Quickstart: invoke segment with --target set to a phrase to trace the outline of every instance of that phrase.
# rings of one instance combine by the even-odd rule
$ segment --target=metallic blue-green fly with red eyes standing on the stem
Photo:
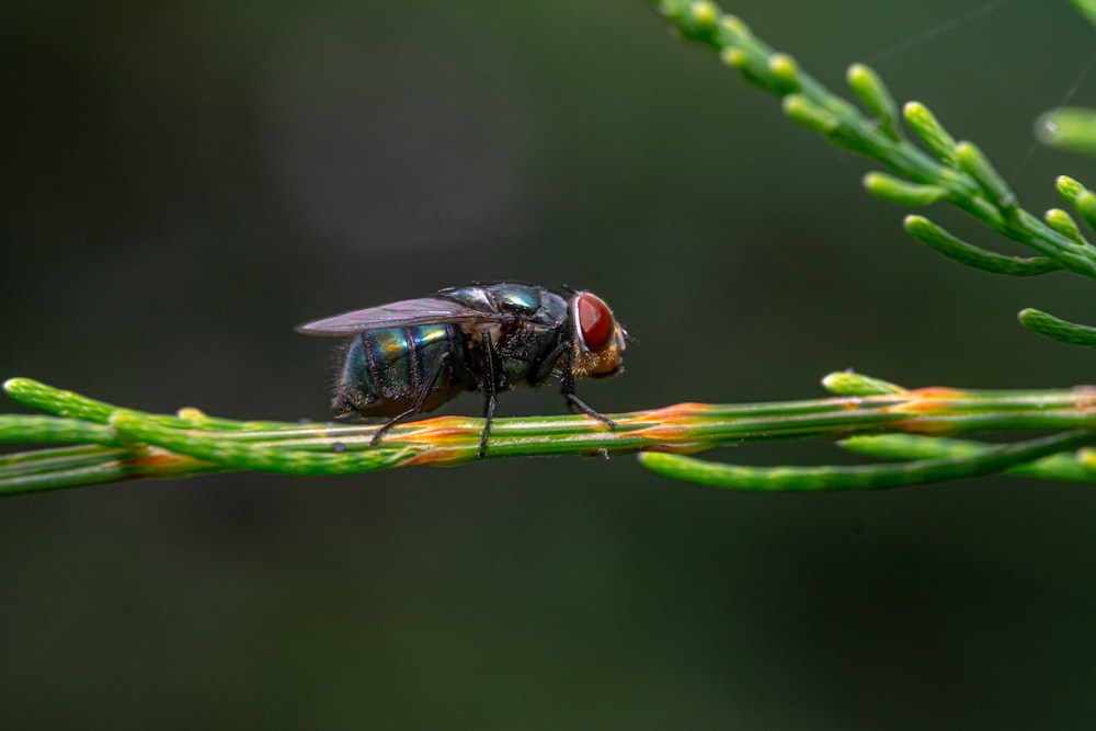
[[[461,391],[483,392],[483,434],[499,393],[540,386],[556,376],[568,408],[613,421],[574,393],[580,376],[623,369],[627,333],[613,310],[589,292],[557,294],[528,284],[472,284],[344,312],[297,328],[307,335],[347,338],[331,398],[338,416],[387,416],[373,437]]]

